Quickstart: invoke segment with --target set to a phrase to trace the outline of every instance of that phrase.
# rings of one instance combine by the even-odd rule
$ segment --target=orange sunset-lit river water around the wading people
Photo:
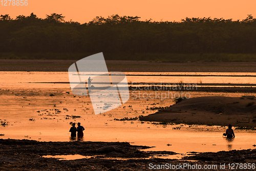
[[[159,76],[163,75],[161,72],[125,72],[125,74],[129,83],[178,83],[182,81],[185,83],[255,84],[256,79],[255,73],[164,73],[168,76]],[[231,75],[233,77],[230,77]],[[122,106],[94,115],[90,97],[74,96],[70,90],[70,84],[36,83],[69,82],[67,72],[0,72],[0,78],[2,101],[0,119],[9,122],[7,126],[0,126],[0,134],[4,134],[0,138],[70,141],[70,122],[73,121],[80,122],[86,129],[84,141],[126,141],[136,145],[155,146],[155,148],[148,149],[150,151],[166,150],[182,154],[186,154],[186,152],[218,152],[253,149],[252,145],[256,144],[256,132],[254,131],[235,130],[236,138],[228,140],[222,137],[226,127],[163,126],[142,123],[138,120],[115,120],[115,118],[155,113],[156,110],[147,109],[173,105],[174,99],[134,99],[130,97],[129,101]],[[226,92],[189,93],[191,97],[255,95]],[[54,96],[50,96],[50,94],[54,94]],[[60,112],[56,112],[58,110]],[[70,117],[72,115],[80,116],[80,118]]]

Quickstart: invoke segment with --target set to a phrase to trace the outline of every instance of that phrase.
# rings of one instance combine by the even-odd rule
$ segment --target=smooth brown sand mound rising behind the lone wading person
[[[254,97],[206,96],[183,99],[169,108],[141,117],[143,121],[256,127]]]

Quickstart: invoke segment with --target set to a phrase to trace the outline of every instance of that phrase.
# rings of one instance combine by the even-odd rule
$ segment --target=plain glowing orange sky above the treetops
[[[89,22],[96,16],[140,16],[141,20],[180,21],[185,17],[211,17],[233,20],[245,19],[247,14],[256,17],[255,0],[28,0],[28,6],[2,6],[0,15],[28,16],[34,13],[39,18],[46,14],[62,14],[65,21]]]

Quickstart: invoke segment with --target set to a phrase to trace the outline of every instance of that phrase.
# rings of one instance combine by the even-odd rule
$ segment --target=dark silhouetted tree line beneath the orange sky
[[[256,19],[185,18],[140,21],[138,16],[96,17],[84,24],[61,14],[45,19],[0,16],[0,53],[256,53]]]

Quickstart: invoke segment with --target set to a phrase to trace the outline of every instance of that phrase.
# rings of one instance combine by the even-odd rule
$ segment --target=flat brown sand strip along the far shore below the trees
[[[68,71],[77,60],[0,60],[0,71]],[[255,72],[256,62],[108,61],[109,71],[123,72]]]

